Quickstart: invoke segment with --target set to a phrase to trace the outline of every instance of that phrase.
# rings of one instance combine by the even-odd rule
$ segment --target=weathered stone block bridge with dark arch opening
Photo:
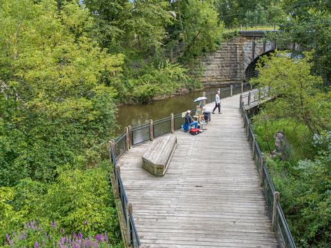
[[[277,43],[263,39],[267,32],[279,31],[240,31],[238,37],[222,43],[217,51],[201,59],[204,68],[202,76],[195,76],[198,72],[192,72],[192,76],[205,86],[240,84],[247,81],[254,76],[259,57],[277,49]]]

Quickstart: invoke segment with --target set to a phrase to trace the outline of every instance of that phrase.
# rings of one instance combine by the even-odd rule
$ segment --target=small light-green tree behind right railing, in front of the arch
[[[269,95],[277,97],[265,105],[270,118],[292,118],[314,134],[329,127],[331,105],[329,95],[319,90],[321,77],[310,74],[310,59],[308,53],[302,59],[292,59],[285,52],[265,56],[258,65],[259,77],[251,83],[270,85]]]

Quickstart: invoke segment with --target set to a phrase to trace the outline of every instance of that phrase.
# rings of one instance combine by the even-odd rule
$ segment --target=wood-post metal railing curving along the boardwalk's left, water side
[[[221,99],[225,97],[232,96],[234,94],[239,94],[246,90],[251,90],[252,87],[249,83],[243,83],[241,85],[230,85],[230,87],[225,87],[220,90]],[[217,91],[207,92],[205,96],[207,99],[205,103],[214,102],[214,96]],[[191,110],[194,112],[196,109]],[[119,199],[121,200],[121,210],[123,211],[125,227],[127,229],[128,242],[132,247],[140,247],[139,235],[137,228],[134,225],[134,218],[132,216],[132,205],[128,201],[128,196],[126,195],[126,190],[123,187],[123,182],[121,180],[121,172],[119,166],[117,166],[117,161],[123,154],[130,149],[131,146],[139,145],[146,141],[153,140],[156,137],[174,132],[174,130],[181,129],[181,125],[184,123],[184,118],[182,114],[171,114],[169,117],[162,118],[157,121],[150,120],[149,123],[139,125],[137,127],[126,127],[126,132],[123,132],[118,136],[113,142],[110,142],[110,159],[112,165],[114,165],[114,191],[117,192]]]

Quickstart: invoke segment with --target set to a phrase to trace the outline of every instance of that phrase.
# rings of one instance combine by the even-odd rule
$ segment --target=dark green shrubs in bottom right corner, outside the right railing
[[[314,136],[314,145],[320,155],[312,161],[268,161],[298,247],[325,247],[331,238],[330,132]]]

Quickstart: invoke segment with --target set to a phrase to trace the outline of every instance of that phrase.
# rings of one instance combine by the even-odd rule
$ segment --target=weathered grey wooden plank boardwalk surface
[[[150,142],[119,160],[142,247],[277,247],[239,95],[222,99],[221,112],[202,134],[172,134],[177,149],[163,177],[141,167]]]

